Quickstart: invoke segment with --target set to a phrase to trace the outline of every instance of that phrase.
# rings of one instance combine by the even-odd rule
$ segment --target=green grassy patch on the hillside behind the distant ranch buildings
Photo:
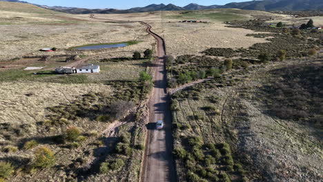
[[[188,11],[182,14],[170,15],[171,19],[210,19],[214,21],[234,21],[244,20],[246,17],[236,14],[236,12],[225,10],[222,12],[208,12],[208,11]]]

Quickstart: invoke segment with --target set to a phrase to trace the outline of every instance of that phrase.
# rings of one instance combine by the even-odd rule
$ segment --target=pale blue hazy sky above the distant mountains
[[[30,3],[37,3],[47,6],[66,6],[66,7],[79,7],[79,8],[117,8],[128,9],[134,7],[147,6],[152,3],[173,3],[176,6],[186,6],[189,3],[198,3],[199,5],[224,5],[231,2],[243,2],[247,0],[23,0]],[[249,0],[250,1],[250,0]]]

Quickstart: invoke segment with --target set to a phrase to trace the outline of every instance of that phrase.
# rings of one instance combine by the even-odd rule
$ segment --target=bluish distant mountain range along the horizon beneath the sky
[[[26,1],[17,0],[0,0],[8,2],[28,3]],[[35,4],[34,4],[35,5]],[[206,10],[216,8],[238,8],[242,10],[265,10],[265,11],[294,11],[294,10],[323,10],[323,0],[263,0],[263,1],[246,1],[242,3],[228,3],[224,6],[201,6],[196,3],[190,3],[188,6],[179,7],[173,4],[165,5],[151,4],[140,8],[130,8],[128,10],[108,9],[86,9],[86,8],[68,8],[61,6],[40,6],[59,12],[67,12],[71,14],[112,14],[112,13],[132,13],[132,12],[153,12],[153,11],[175,11],[175,10]]]

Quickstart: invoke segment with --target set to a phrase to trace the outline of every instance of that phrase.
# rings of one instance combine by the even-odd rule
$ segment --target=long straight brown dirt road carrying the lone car
[[[171,130],[170,109],[168,95],[166,93],[166,68],[164,55],[165,44],[157,34],[151,32],[147,26],[146,31],[155,37],[157,41],[158,60],[155,63],[155,75],[153,78],[153,96],[150,99],[150,123],[146,138],[146,150],[144,153],[144,166],[141,181],[176,181],[175,166],[173,163],[173,136]],[[164,129],[156,130],[155,123],[158,120],[164,121]]]

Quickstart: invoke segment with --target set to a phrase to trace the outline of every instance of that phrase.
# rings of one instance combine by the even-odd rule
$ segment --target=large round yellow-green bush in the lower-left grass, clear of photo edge
[[[52,151],[46,147],[38,148],[35,152],[34,166],[36,168],[48,168],[55,165],[55,156]]]

